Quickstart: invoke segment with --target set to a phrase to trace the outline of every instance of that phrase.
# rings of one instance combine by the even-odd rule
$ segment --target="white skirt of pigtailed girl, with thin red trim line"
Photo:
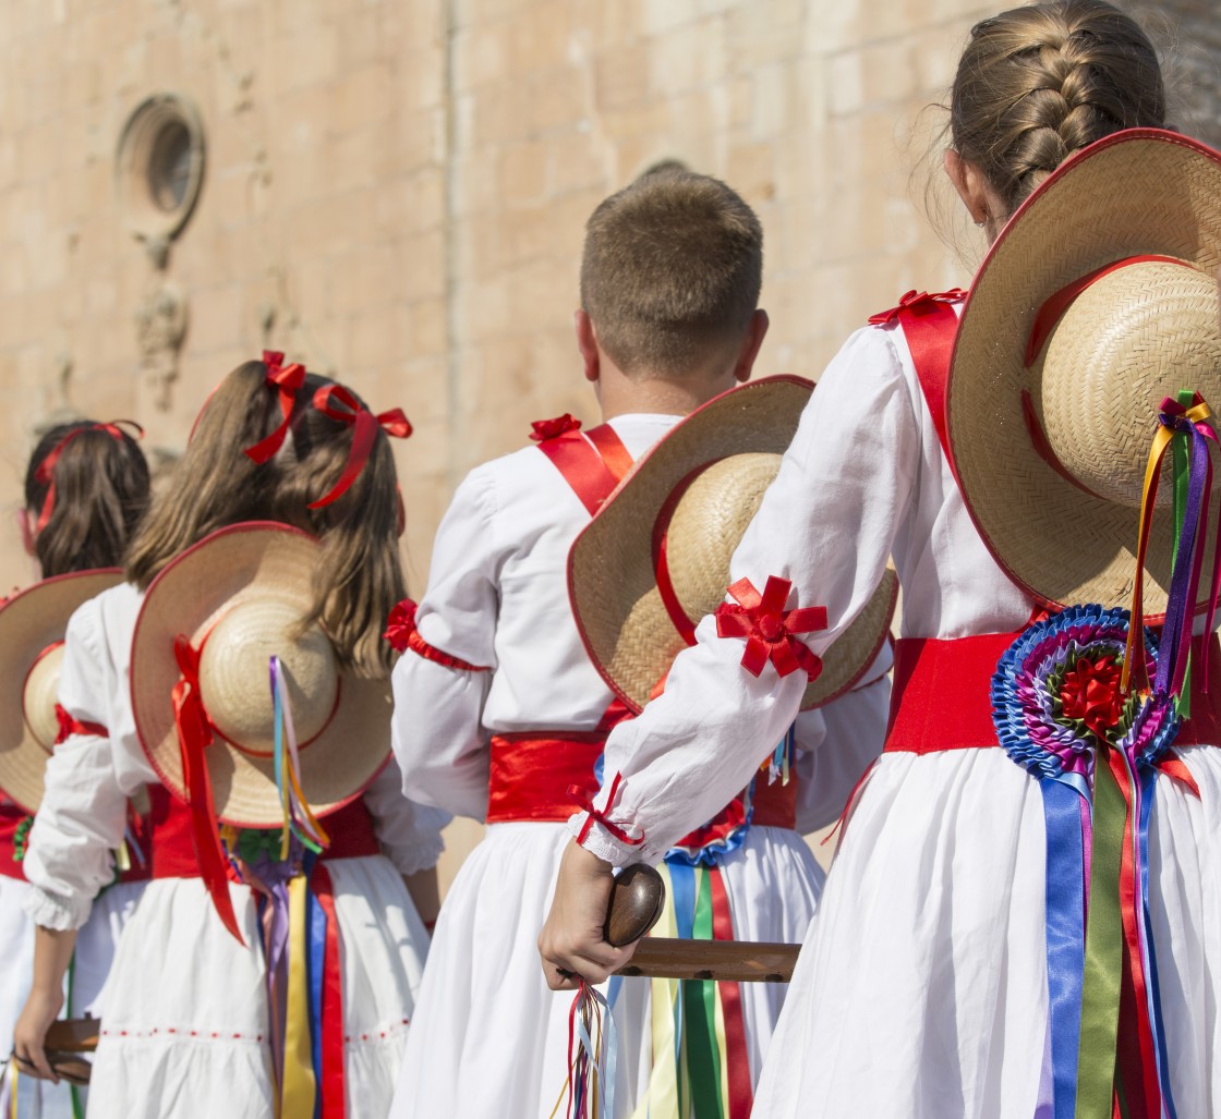
[[[349,1119],[383,1119],[427,934],[381,855],[327,862],[343,973]],[[104,992],[89,1119],[271,1119],[264,958],[253,891],[230,886],[242,947],[199,879],[153,881]]]

